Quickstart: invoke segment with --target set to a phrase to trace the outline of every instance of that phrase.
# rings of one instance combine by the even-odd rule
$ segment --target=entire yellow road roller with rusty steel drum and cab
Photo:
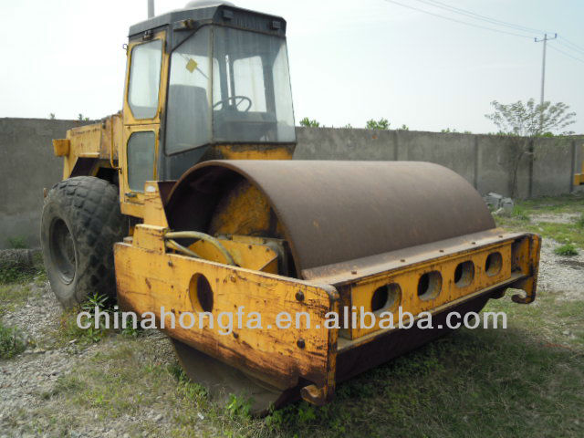
[[[53,141],[41,221],[64,307],[153,315],[193,381],[257,414],[325,404],[509,288],[531,303],[540,248],[442,166],[294,160],[286,28],[225,2],[131,26],[122,110]]]

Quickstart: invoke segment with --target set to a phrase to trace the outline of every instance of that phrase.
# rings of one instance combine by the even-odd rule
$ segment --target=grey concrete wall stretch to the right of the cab
[[[436,162],[464,176],[481,194],[516,198],[571,193],[574,172],[584,159],[581,136],[528,141],[410,130],[298,128],[297,141],[296,160]]]

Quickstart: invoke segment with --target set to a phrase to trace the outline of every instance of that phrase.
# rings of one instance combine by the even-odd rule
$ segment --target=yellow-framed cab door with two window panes
[[[142,217],[144,183],[158,177],[168,54],[165,33],[144,34],[128,47],[120,174],[121,213]]]

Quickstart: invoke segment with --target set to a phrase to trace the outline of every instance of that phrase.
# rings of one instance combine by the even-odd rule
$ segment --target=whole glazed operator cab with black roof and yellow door
[[[221,148],[293,147],[286,21],[198,1],[131,26],[123,113],[132,193]]]

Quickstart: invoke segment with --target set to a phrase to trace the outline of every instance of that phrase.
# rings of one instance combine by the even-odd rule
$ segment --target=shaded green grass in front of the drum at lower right
[[[509,328],[459,330],[267,424],[282,436],[580,436],[584,303],[506,297],[488,310],[507,311]]]

